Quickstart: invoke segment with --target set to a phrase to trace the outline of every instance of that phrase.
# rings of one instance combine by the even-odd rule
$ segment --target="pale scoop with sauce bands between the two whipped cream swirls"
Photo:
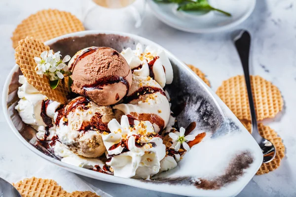
[[[170,104],[163,89],[151,77],[133,75],[133,83],[124,103],[113,106],[132,121],[149,121],[155,132],[162,131],[170,119]]]

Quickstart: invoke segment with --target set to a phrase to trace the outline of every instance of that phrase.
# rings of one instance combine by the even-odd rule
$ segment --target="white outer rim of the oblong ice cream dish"
[[[138,40],[142,40],[144,43],[150,43],[151,45],[157,46],[163,50],[166,51],[166,53],[168,54],[168,56],[173,59],[175,62],[177,62],[179,65],[184,66],[184,69],[187,69],[195,78],[196,80],[199,81],[199,83],[204,86],[206,88],[206,90],[208,91],[209,95],[213,97],[213,99],[215,100],[215,102],[217,102],[218,106],[220,105],[224,105],[223,107],[227,107],[222,100],[210,89],[210,87],[208,87],[191,69],[189,69],[187,66],[185,66],[185,64],[178,60],[172,53],[170,53],[169,51],[167,51],[166,49],[164,49],[163,47],[161,47],[159,44],[154,43],[153,41],[150,41],[146,38],[143,38],[141,36],[138,35],[134,35],[134,34],[130,34],[130,33],[121,33],[121,32],[113,32],[113,31],[82,31],[82,32],[76,32],[76,33],[69,33],[69,34],[65,34],[56,38],[53,38],[51,40],[48,40],[46,42],[44,42],[44,44],[49,45],[52,44],[60,39],[63,38],[67,38],[67,37],[71,37],[71,36],[85,36],[85,35],[89,35],[89,34],[117,34],[117,35],[121,35],[121,36],[128,36],[131,38],[135,38]],[[82,167],[77,167],[71,164],[66,164],[63,163],[57,159],[51,158],[45,154],[43,154],[42,152],[38,151],[36,148],[34,148],[31,144],[29,144],[26,139],[23,138],[23,136],[19,133],[19,131],[17,131],[17,129],[15,128],[15,126],[13,125],[9,114],[8,114],[8,110],[7,110],[7,99],[8,99],[8,89],[9,89],[9,84],[11,82],[12,79],[12,75],[13,73],[19,68],[18,65],[15,65],[12,70],[10,71],[9,75],[7,76],[6,80],[5,80],[5,84],[3,87],[3,93],[2,93],[2,108],[3,108],[3,113],[4,116],[6,118],[6,121],[9,125],[9,127],[11,128],[11,130],[14,132],[14,134],[22,141],[22,143],[29,148],[32,152],[36,153],[38,156],[42,157],[43,159],[57,164],[71,172],[83,175],[83,176],[87,176],[90,178],[94,178],[94,179],[98,179],[98,180],[102,180],[102,181],[106,181],[106,182],[111,182],[111,183],[118,183],[118,184],[124,184],[124,185],[129,185],[129,186],[133,186],[133,187],[138,187],[138,188],[143,188],[143,189],[147,189],[147,190],[153,190],[153,191],[158,191],[158,192],[164,192],[164,193],[170,193],[170,194],[177,194],[177,195],[192,195],[192,196],[204,196],[204,197],[224,197],[224,196],[236,196],[237,194],[239,194],[244,187],[249,183],[249,181],[253,178],[253,176],[255,175],[255,173],[257,172],[257,170],[259,169],[260,165],[258,166],[258,169],[253,173],[252,176],[246,177],[244,179],[244,181],[240,180],[241,182],[244,182],[242,184],[242,186],[240,188],[237,188],[236,191],[223,191],[223,194],[217,193],[218,191],[209,191],[209,190],[200,190],[200,189],[196,189],[195,193],[191,193],[191,194],[184,194],[183,191],[167,191],[165,185],[162,188],[153,188],[153,184],[154,183],[148,183],[148,182],[143,182],[143,181],[139,181],[137,179],[132,179],[132,178],[122,178],[122,177],[116,177],[116,176],[111,176],[109,174],[104,174],[104,173],[98,173],[96,171],[93,170],[89,170],[89,169],[85,169]],[[218,102],[219,101],[219,102]],[[231,114],[232,118],[236,118],[234,114]],[[248,132],[246,130],[246,132]],[[213,194],[211,194],[213,193]]]

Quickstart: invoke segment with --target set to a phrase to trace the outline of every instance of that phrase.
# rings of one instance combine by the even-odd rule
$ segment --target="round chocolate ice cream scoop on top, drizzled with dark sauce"
[[[127,95],[132,71],[126,60],[109,47],[88,47],[78,51],[69,62],[72,91],[98,105],[117,103]]]

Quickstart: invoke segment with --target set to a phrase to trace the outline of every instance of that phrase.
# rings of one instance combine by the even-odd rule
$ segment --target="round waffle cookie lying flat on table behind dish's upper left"
[[[46,41],[67,33],[84,31],[82,22],[70,12],[57,9],[40,10],[23,20],[14,30],[11,40],[13,48],[27,36]]]

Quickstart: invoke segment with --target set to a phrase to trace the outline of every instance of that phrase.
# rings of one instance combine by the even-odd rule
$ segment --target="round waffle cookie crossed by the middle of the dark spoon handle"
[[[251,84],[257,119],[275,117],[284,104],[279,89],[260,76],[251,75]],[[216,94],[238,119],[251,121],[244,76],[238,75],[223,81]]]

